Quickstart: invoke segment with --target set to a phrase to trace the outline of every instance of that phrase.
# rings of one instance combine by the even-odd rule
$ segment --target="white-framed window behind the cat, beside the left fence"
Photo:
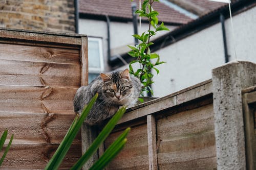
[[[88,37],[89,83],[103,71],[102,39]]]

